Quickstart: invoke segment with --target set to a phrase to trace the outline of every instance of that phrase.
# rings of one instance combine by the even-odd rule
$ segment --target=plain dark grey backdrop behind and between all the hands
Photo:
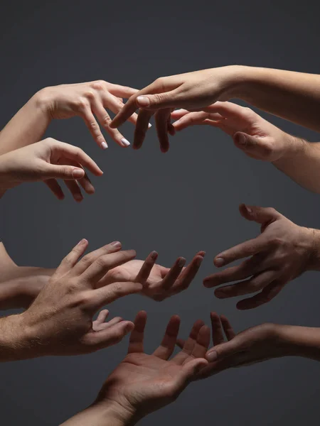
[[[316,1],[26,1],[1,6],[1,126],[38,89],[104,79],[144,87],[156,77],[228,64],[320,71]],[[307,6],[307,7],[306,7]],[[267,116],[267,115],[265,115]],[[267,116],[274,124],[316,141],[316,133]],[[131,124],[124,126],[130,140]],[[139,151],[110,141],[100,151],[80,119],[53,123],[48,135],[85,148],[105,170],[96,193],[76,204],[58,202],[45,185],[23,185],[1,200],[1,237],[16,263],[57,266],[82,237],[95,249],[119,239],[144,258],[160,253],[207,256],[191,288],[161,303],[134,296],[115,302],[112,315],[149,313],[146,349],[159,343],[171,314],[186,336],[210,310],[228,315],[235,329],[262,322],[319,326],[319,275],[307,273],[271,303],[239,312],[236,300],[219,301],[203,288],[213,256],[256,236],[238,204],[272,206],[298,224],[320,227],[320,199],[272,168],[242,155],[228,136],[192,128],[159,151],[154,129]],[[57,425],[85,408],[122,359],[122,344],[89,356],[46,358],[0,366],[1,423]],[[278,359],[226,371],[194,383],[173,405],[142,425],[300,425],[318,417],[319,364]],[[209,424],[210,424],[209,423]]]

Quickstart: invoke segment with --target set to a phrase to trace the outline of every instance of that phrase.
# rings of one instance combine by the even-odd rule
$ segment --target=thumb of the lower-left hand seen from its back
[[[133,328],[133,322],[122,321],[112,327],[88,333],[83,341],[87,346],[92,347],[92,351],[97,351],[121,342]]]

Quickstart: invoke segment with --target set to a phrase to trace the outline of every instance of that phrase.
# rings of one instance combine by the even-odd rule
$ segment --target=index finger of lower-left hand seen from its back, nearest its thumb
[[[97,290],[90,291],[90,300],[87,302],[87,310],[97,312],[102,306],[110,305],[114,300],[120,297],[134,295],[142,290],[140,283],[130,281],[122,283],[113,283]]]

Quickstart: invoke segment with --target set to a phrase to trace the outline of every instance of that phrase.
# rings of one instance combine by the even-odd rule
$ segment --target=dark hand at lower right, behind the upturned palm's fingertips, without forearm
[[[279,332],[281,327],[287,326],[265,323],[235,334],[224,315],[219,317],[211,312],[210,318],[214,346],[206,354],[209,364],[198,373],[198,378],[212,376],[226,368],[249,366],[290,354],[290,344]]]

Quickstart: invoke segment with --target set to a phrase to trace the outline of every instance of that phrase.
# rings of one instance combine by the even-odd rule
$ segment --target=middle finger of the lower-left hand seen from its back
[[[91,285],[97,283],[112,268],[132,261],[137,253],[134,250],[118,251],[100,256],[83,273],[82,280]]]

